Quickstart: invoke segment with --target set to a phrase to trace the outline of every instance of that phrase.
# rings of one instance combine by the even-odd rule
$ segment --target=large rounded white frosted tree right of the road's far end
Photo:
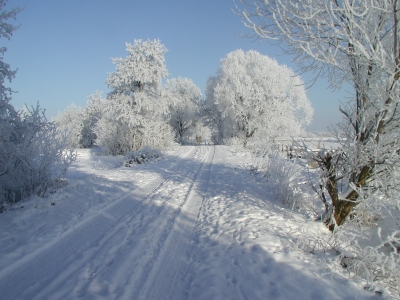
[[[250,138],[295,135],[311,122],[313,109],[301,79],[257,51],[229,53],[208,83],[224,129],[244,146]]]

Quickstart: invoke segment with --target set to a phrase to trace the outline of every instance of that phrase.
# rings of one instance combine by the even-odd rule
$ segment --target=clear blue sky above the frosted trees
[[[202,91],[219,61],[236,49],[254,49],[293,69],[291,57],[267,41],[240,38],[248,33],[231,0],[9,0],[6,9],[25,7],[11,38],[1,40],[4,61],[18,68],[11,87],[12,104],[22,108],[39,101],[50,118],[71,103],[85,106],[87,96],[107,92],[111,57],[125,57],[125,42],[160,39],[166,46],[171,77],[188,77]],[[303,76],[307,81],[312,74]],[[347,93],[331,91],[322,79],[307,95],[315,110],[310,131],[325,131],[340,121],[340,101]]]

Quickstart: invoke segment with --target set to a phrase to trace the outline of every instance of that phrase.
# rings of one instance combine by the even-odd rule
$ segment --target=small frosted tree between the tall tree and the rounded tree
[[[201,91],[192,80],[178,77],[167,80],[164,93],[169,102],[170,124],[176,133],[176,141],[182,143],[184,135],[200,118]]]

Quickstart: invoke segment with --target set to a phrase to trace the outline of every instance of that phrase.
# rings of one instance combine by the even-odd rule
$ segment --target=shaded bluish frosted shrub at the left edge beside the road
[[[0,203],[44,195],[76,158],[39,106],[1,119],[0,127]]]

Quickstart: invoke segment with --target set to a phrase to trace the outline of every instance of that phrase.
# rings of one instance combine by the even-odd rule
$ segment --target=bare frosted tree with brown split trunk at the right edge
[[[342,148],[314,159],[323,172],[327,225],[342,225],[360,203],[395,199],[399,170],[400,45],[398,0],[241,0],[246,26],[284,43],[303,71],[348,82],[354,99],[334,129]],[[348,182],[339,193],[338,182]],[[392,195],[392,196],[388,196]],[[396,194],[398,195],[398,194]],[[385,196],[385,197],[384,197]]]

